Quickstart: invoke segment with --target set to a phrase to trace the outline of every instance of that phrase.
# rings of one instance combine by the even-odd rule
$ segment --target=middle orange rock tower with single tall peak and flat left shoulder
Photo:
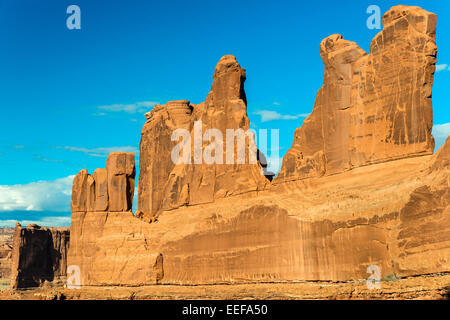
[[[262,190],[268,184],[259,162],[250,160],[249,150],[256,155],[253,136],[246,138],[244,163],[238,163],[238,148],[231,150],[231,145],[225,142],[220,146],[222,156],[217,156],[223,164],[207,163],[202,154],[216,141],[213,137],[205,138],[208,129],[217,129],[223,141],[227,140],[227,130],[247,132],[249,129],[244,81],[245,70],[236,58],[224,56],[215,68],[211,92],[205,102],[192,105],[184,100],[170,101],[164,106],[155,106],[146,115],[148,120],[142,129],[140,144],[139,217],[152,221],[161,210],[209,203]],[[171,157],[179,143],[171,140],[177,129],[190,132],[189,164],[176,164]],[[200,138],[200,148],[196,148],[196,136],[204,138],[203,141]],[[237,143],[237,139],[235,141]],[[201,152],[196,151],[199,149]],[[232,164],[227,162],[227,153],[234,156]]]

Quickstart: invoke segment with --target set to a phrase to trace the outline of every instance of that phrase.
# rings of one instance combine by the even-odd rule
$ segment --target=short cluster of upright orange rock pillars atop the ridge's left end
[[[131,211],[136,169],[134,153],[111,152],[106,169],[81,170],[73,180],[72,212]]]

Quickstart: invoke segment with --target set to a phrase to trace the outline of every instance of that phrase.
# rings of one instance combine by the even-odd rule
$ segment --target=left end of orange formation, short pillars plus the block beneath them
[[[139,285],[164,277],[163,256],[150,252],[145,238],[128,225],[128,219],[142,222],[131,212],[135,172],[134,154],[115,152],[106,170],[92,177],[82,170],[74,179],[68,264],[80,268],[82,285]],[[110,219],[119,223],[105,231]]]

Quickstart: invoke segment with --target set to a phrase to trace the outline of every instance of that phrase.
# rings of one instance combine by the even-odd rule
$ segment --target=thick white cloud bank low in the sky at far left
[[[70,211],[75,176],[28,184],[0,185],[0,211]]]

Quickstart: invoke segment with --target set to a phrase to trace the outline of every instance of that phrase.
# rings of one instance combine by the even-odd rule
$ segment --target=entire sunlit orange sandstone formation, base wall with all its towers
[[[94,212],[87,173],[74,181],[69,264],[81,284],[344,281],[367,279],[371,265],[382,277],[450,272],[450,142],[430,155],[435,22],[394,7],[370,55],[324,40],[324,86],[273,184],[259,164],[170,158],[172,131],[192,136],[194,120],[248,127],[234,57],[219,62],[204,103],[155,107],[141,140],[143,219]]]

